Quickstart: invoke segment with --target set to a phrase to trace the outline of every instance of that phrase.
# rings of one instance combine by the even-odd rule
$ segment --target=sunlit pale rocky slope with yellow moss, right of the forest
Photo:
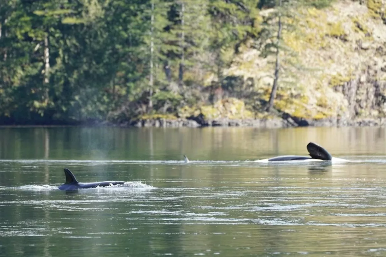
[[[274,107],[310,125],[386,117],[385,10],[385,0],[335,1],[329,8],[300,10],[299,19],[291,21],[296,31],[283,30],[293,55],[281,52],[284,68]],[[254,81],[257,97],[268,100],[272,58],[245,46],[226,75]],[[305,69],[291,68],[293,62]]]

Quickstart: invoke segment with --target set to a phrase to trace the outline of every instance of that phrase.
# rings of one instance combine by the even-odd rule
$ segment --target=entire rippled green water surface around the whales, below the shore
[[[385,135],[0,128],[0,256],[386,256]],[[310,141],[355,162],[251,162]],[[127,183],[64,192],[63,167]]]

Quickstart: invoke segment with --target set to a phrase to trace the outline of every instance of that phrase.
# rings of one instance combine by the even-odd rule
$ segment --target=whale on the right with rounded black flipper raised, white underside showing
[[[340,158],[332,157],[326,149],[318,144],[310,142],[307,144],[307,150],[310,156],[283,155],[269,159],[257,160],[255,162],[276,162],[276,161],[305,161],[305,162],[321,162],[321,161],[347,161]]]

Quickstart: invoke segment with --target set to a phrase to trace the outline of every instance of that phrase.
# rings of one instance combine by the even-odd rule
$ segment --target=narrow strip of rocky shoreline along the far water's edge
[[[248,118],[248,119],[197,119],[197,118],[153,118],[134,120],[122,123],[106,121],[79,123],[39,123],[39,124],[2,124],[0,128],[32,128],[32,127],[164,127],[164,128],[203,128],[203,127],[253,127],[253,128],[291,128],[291,127],[382,127],[386,126],[386,118],[325,118],[321,120],[305,120],[295,117],[276,118]]]

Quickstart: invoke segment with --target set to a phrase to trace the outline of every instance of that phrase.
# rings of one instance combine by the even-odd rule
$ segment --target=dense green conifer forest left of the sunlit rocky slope
[[[281,32],[296,26],[302,8],[330,2],[2,1],[0,123],[178,117],[219,95],[245,101],[252,112],[270,111],[280,86],[279,51],[288,51]],[[224,73],[243,47],[275,60],[269,100],[254,81],[245,86]]]

